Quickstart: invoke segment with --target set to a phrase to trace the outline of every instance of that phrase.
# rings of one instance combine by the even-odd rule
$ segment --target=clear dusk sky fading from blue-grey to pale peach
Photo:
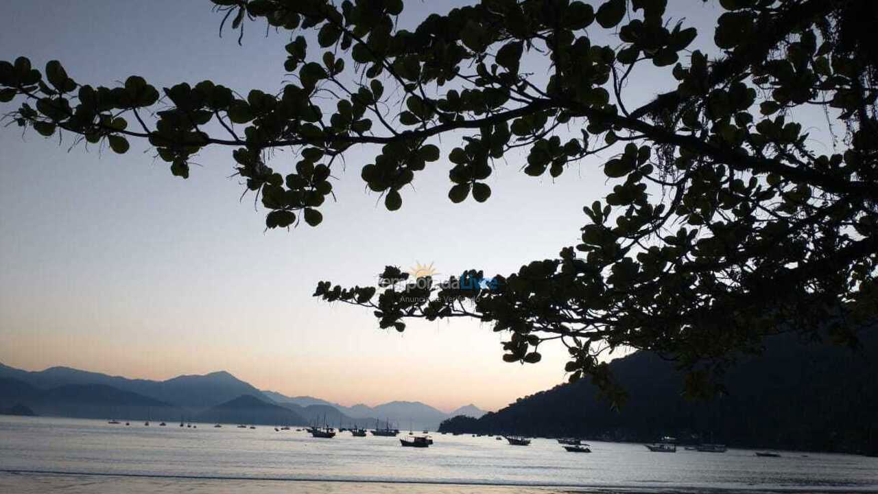
[[[711,47],[718,6],[677,6],[684,4],[687,11],[674,17],[700,28],[694,47]],[[3,2],[0,59],[23,54],[40,69],[58,59],[83,84],[136,74],[159,88],[212,79],[245,94],[276,92],[289,34],[266,36],[264,25],[251,23],[239,47],[230,32],[219,39],[220,17],[210,6]],[[400,25],[450,6],[407,2]],[[647,73],[627,91],[638,102],[672,87]],[[447,139],[443,149],[457,142]],[[420,400],[444,410],[464,403],[497,409],[565,380],[558,346],[545,349],[536,366],[507,364],[500,335],[479,323],[412,322],[403,334],[386,332],[368,310],[311,294],[319,280],[373,284],[388,264],[434,263],[448,276],[469,267],[513,272],[555,258],[578,242],[582,206],[611,187],[598,168],[609,156],[554,181],[524,175],[523,156],[507,156],[488,180],[493,195],[483,205],[450,203],[443,158],[415,178],[400,211],[388,212],[359,178],[372,151],[357,149],[319,228],[263,232],[265,211],[255,211],[252,195],[239,202],[241,184],[228,178],[230,149],[206,149],[196,160],[203,167],[183,180],[143,142],[125,156],[72,143],[69,135],[47,141],[0,129],[4,364],[150,379],[224,369],[288,395],[344,404]],[[292,163],[286,153],[272,165],[283,171]]]

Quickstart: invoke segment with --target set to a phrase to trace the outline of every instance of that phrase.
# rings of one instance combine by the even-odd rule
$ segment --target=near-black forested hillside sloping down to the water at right
[[[878,331],[862,348],[809,345],[795,335],[768,341],[761,357],[744,356],[724,378],[727,394],[710,401],[682,396],[672,362],[637,352],[615,360],[629,394],[612,410],[587,380],[520,398],[475,419],[451,418],[442,432],[539,437],[722,442],[730,447],[811,451],[878,451]]]

